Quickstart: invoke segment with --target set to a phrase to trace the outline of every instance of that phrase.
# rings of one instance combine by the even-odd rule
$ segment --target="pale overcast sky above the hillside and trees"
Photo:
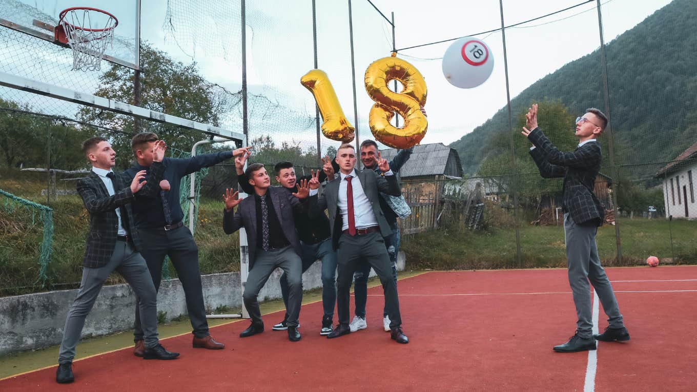
[[[20,1],[50,15],[57,15],[59,10],[76,4],[74,0]],[[505,24],[523,22],[581,2],[505,0]],[[118,34],[125,36],[126,40],[134,39],[135,0],[118,3],[92,0],[87,3],[118,15]],[[173,9],[177,39],[173,40],[172,33],[165,33],[162,29],[167,0],[142,1],[141,38],[179,61],[188,63],[195,59],[208,80],[237,91],[241,83],[240,0],[170,0],[170,3],[178,7]],[[362,74],[370,62],[390,55],[391,27],[367,1],[352,1],[359,116],[356,124],[348,45],[348,4],[344,0],[319,0],[316,3],[318,68],[330,76],[344,113],[351,123],[358,125],[361,139],[372,137],[367,130],[367,114],[372,101],[362,86]],[[387,17],[390,17],[390,12],[395,13],[397,48],[472,35],[497,29],[501,24],[498,0],[431,0],[427,7],[422,6],[423,1],[416,0],[373,0],[373,3]],[[670,1],[605,0],[603,3],[604,34],[608,42]],[[314,99],[299,82],[302,75],[314,68],[311,4],[310,0],[247,0],[250,91],[264,94],[273,102],[284,105],[293,116],[314,115]],[[595,6],[593,1],[506,30],[511,98],[565,63],[599,47]],[[477,38],[484,40],[491,48],[494,68],[489,80],[473,89],[458,89],[443,77],[440,59],[450,43],[399,52],[399,56],[420,70],[427,82],[429,130],[422,143],[448,144],[458,140],[505,106],[502,34],[497,31],[480,34]],[[223,53],[226,55],[223,56]],[[597,106],[602,106],[602,103]],[[292,120],[275,117],[277,119],[265,121],[273,123],[280,130],[284,130],[284,126],[296,126]],[[278,120],[277,124],[275,120]],[[285,131],[287,134],[293,133],[293,130]]]

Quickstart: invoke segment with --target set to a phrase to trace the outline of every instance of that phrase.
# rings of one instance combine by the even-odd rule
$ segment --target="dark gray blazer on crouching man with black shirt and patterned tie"
[[[296,250],[298,256],[302,255],[300,239],[296,232],[295,218],[293,213],[307,212],[306,204],[301,203],[297,197],[291,195],[279,186],[270,186],[267,190],[273,202],[273,209],[281,224],[281,229],[291,246]],[[256,197],[250,195],[240,202],[237,211],[226,211],[223,209],[222,229],[225,234],[232,234],[244,227],[247,230],[247,244],[250,253],[250,269],[254,267],[256,259]]]

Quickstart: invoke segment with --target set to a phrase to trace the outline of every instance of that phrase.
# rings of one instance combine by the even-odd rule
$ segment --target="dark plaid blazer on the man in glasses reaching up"
[[[595,177],[603,160],[600,144],[588,142],[573,152],[562,152],[539,128],[530,132],[528,140],[535,144],[530,155],[539,174],[544,178],[564,177],[563,211],[568,212],[577,225],[595,223],[601,226],[605,209],[593,193]]]

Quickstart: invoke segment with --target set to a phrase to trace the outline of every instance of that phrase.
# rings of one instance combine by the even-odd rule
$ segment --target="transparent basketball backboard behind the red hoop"
[[[0,29],[8,28],[56,45],[67,47],[54,39],[61,10],[73,6],[89,6],[106,10],[118,19],[114,41],[103,59],[138,69],[141,0],[0,0]],[[28,47],[27,50],[32,50]],[[70,50],[63,51],[70,56]],[[60,59],[56,59],[60,61]]]

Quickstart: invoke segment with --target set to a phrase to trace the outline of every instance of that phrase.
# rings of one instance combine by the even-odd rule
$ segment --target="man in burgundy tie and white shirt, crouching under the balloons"
[[[338,338],[350,333],[349,299],[351,281],[359,262],[368,262],[377,273],[385,291],[385,303],[390,304],[390,336],[399,343],[409,339],[401,330],[397,285],[392,278],[390,256],[385,249],[383,237],[391,229],[380,209],[379,193],[401,195],[395,175],[387,160],[379,160],[378,167],[383,175],[373,170],[355,170],[356,155],[351,144],[342,144],[337,150],[339,179],[327,184],[319,193],[319,180],[314,174],[309,183],[309,214],[318,216],[329,211],[332,229],[332,244],[338,250],[339,278],[337,279],[337,310],[339,325],[327,338]]]

